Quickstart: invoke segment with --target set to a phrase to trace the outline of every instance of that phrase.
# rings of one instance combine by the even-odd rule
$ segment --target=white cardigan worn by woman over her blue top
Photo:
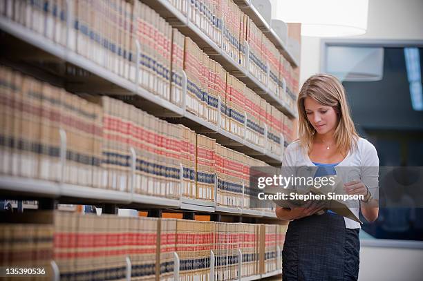
[[[306,150],[302,149],[299,145],[299,140],[292,142],[286,149],[285,155],[282,162],[282,170],[285,167],[285,172],[288,167],[301,167],[301,166],[315,166]],[[355,177],[351,175],[342,175],[341,169],[339,166],[348,166],[348,173],[356,173]],[[343,182],[349,182],[350,180],[359,178],[361,182],[366,184],[370,194],[375,199],[379,199],[379,157],[377,157],[377,151],[373,144],[370,144],[367,139],[359,138],[357,142],[357,149],[353,148],[337,166],[335,166],[335,171],[337,175],[341,176]],[[290,168],[288,168],[290,169]],[[344,170],[343,170],[344,171]],[[357,205],[359,203],[357,202]],[[350,208],[355,215],[359,215],[359,208]],[[344,217],[345,226],[347,229],[359,229],[360,224],[354,220],[350,220],[347,217]]]

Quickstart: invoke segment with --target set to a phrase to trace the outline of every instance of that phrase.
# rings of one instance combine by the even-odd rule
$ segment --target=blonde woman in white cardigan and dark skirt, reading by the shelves
[[[297,107],[299,139],[286,148],[282,169],[322,166],[336,174],[339,166],[359,167],[355,180],[342,177],[344,191],[363,195],[359,207],[350,210],[356,217],[361,211],[368,222],[375,221],[379,158],[375,147],[355,131],[344,87],[332,75],[313,75],[303,84]],[[283,281],[357,280],[358,222],[324,211],[320,203],[311,201],[301,207],[276,208],[276,215],[291,220],[282,253]]]

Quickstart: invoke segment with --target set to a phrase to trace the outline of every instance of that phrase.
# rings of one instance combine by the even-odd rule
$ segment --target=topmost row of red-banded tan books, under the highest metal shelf
[[[232,0],[169,0],[229,57],[295,110],[299,73]],[[250,47],[246,65],[247,46]]]

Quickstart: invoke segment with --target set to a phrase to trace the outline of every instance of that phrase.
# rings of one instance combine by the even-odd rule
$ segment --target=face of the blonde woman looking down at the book
[[[306,97],[304,99],[304,109],[306,109],[308,121],[319,135],[326,135],[335,131],[338,115],[332,106],[323,106],[315,99]]]

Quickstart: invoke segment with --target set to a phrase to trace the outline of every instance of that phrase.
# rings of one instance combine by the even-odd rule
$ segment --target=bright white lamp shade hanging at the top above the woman
[[[367,30],[368,0],[270,0],[272,19],[301,23],[301,35],[362,35]]]

